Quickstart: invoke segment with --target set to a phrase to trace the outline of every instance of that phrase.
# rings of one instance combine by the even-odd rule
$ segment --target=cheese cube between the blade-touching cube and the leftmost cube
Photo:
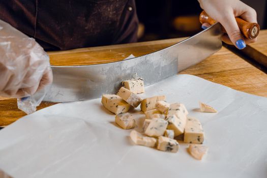
[[[117,95],[122,97],[122,99],[124,99],[128,104],[134,107],[137,107],[142,101],[142,99],[138,95],[132,93],[125,87],[121,87]]]

